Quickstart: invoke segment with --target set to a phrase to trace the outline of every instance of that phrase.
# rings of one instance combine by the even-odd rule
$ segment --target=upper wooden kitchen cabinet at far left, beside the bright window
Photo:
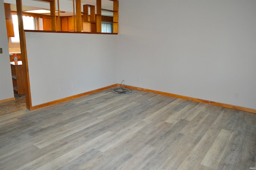
[[[6,20],[6,29],[7,36],[14,37],[14,29],[12,23],[12,12],[11,12],[11,4],[4,3],[4,11],[5,11],[5,20]]]

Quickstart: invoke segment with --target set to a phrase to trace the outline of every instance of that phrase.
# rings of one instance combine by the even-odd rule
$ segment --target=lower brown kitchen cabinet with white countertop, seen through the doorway
[[[18,65],[15,65],[14,62],[10,62],[10,63],[11,63],[11,70],[12,70],[13,90],[14,90],[14,93],[20,96],[22,94],[25,94],[22,61],[18,61]]]

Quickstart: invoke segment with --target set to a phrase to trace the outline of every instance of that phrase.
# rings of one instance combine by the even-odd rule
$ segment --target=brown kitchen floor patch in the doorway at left
[[[14,94],[15,100],[0,103],[0,116],[26,110],[26,98],[25,95]]]

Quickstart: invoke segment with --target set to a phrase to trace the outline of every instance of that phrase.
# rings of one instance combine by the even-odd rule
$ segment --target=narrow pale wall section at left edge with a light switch
[[[4,13],[4,0],[0,0],[0,23],[0,48],[3,50],[3,53],[0,54],[0,100],[5,100],[13,98],[14,92],[12,88],[12,73]]]

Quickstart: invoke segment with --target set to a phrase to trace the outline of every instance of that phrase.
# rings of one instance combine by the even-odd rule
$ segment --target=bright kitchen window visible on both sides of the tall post
[[[23,19],[23,27],[24,30],[36,30],[37,22],[36,19],[32,16],[22,16]],[[14,28],[14,37],[11,37],[12,42],[20,42],[20,35],[19,35],[19,26],[18,26],[18,16],[12,15],[12,22]]]

